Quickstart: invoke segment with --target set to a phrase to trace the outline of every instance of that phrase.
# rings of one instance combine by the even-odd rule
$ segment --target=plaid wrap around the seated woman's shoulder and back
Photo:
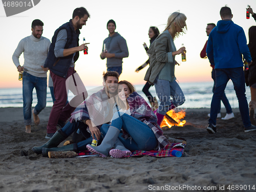
[[[158,140],[158,148],[162,149],[167,144],[170,144],[166,137],[163,136],[163,130],[157,124],[157,116],[154,114],[150,105],[147,104],[145,99],[137,92],[133,92],[127,98],[127,101],[130,106],[131,116],[147,124],[154,132]],[[127,139],[130,137],[130,135],[123,130],[123,137]]]

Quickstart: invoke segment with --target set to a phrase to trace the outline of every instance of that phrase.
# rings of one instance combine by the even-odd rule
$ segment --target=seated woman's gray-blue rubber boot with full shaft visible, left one
[[[108,132],[106,133],[104,139],[99,146],[92,146],[88,144],[86,145],[86,147],[90,152],[99,154],[100,157],[109,156],[109,152],[114,146],[119,133],[119,129],[114,126],[110,126]]]

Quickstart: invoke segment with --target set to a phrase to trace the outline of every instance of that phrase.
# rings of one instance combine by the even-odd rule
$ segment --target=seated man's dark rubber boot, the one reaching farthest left
[[[53,148],[59,145],[62,141],[64,141],[68,136],[63,133],[61,130],[58,130],[52,138],[44,145],[42,146],[34,146],[32,148],[32,151],[35,152],[36,154],[41,154],[42,153],[42,148]]]

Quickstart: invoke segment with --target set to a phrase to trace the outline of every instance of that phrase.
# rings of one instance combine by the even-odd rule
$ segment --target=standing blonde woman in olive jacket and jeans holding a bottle
[[[157,96],[160,100],[159,108],[155,111],[157,123],[160,125],[164,115],[169,110],[182,105],[185,97],[176,82],[175,56],[186,52],[185,47],[178,51],[174,45],[174,39],[185,33],[187,17],[183,13],[174,12],[167,20],[165,30],[156,38],[153,45],[147,51],[150,54],[150,67],[144,80],[155,84]]]

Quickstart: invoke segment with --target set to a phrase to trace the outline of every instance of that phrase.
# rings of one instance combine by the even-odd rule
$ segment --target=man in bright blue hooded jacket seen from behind
[[[232,13],[229,7],[220,10],[221,19],[209,34],[206,48],[211,65],[215,66],[216,89],[212,96],[210,106],[209,124],[206,130],[216,133],[216,118],[220,100],[223,96],[229,79],[232,80],[236,91],[239,110],[244,124],[245,132],[256,131],[249,118],[248,103],[245,96],[245,77],[243,71],[242,54],[248,65],[252,63],[247,40],[242,27],[232,22]]]

